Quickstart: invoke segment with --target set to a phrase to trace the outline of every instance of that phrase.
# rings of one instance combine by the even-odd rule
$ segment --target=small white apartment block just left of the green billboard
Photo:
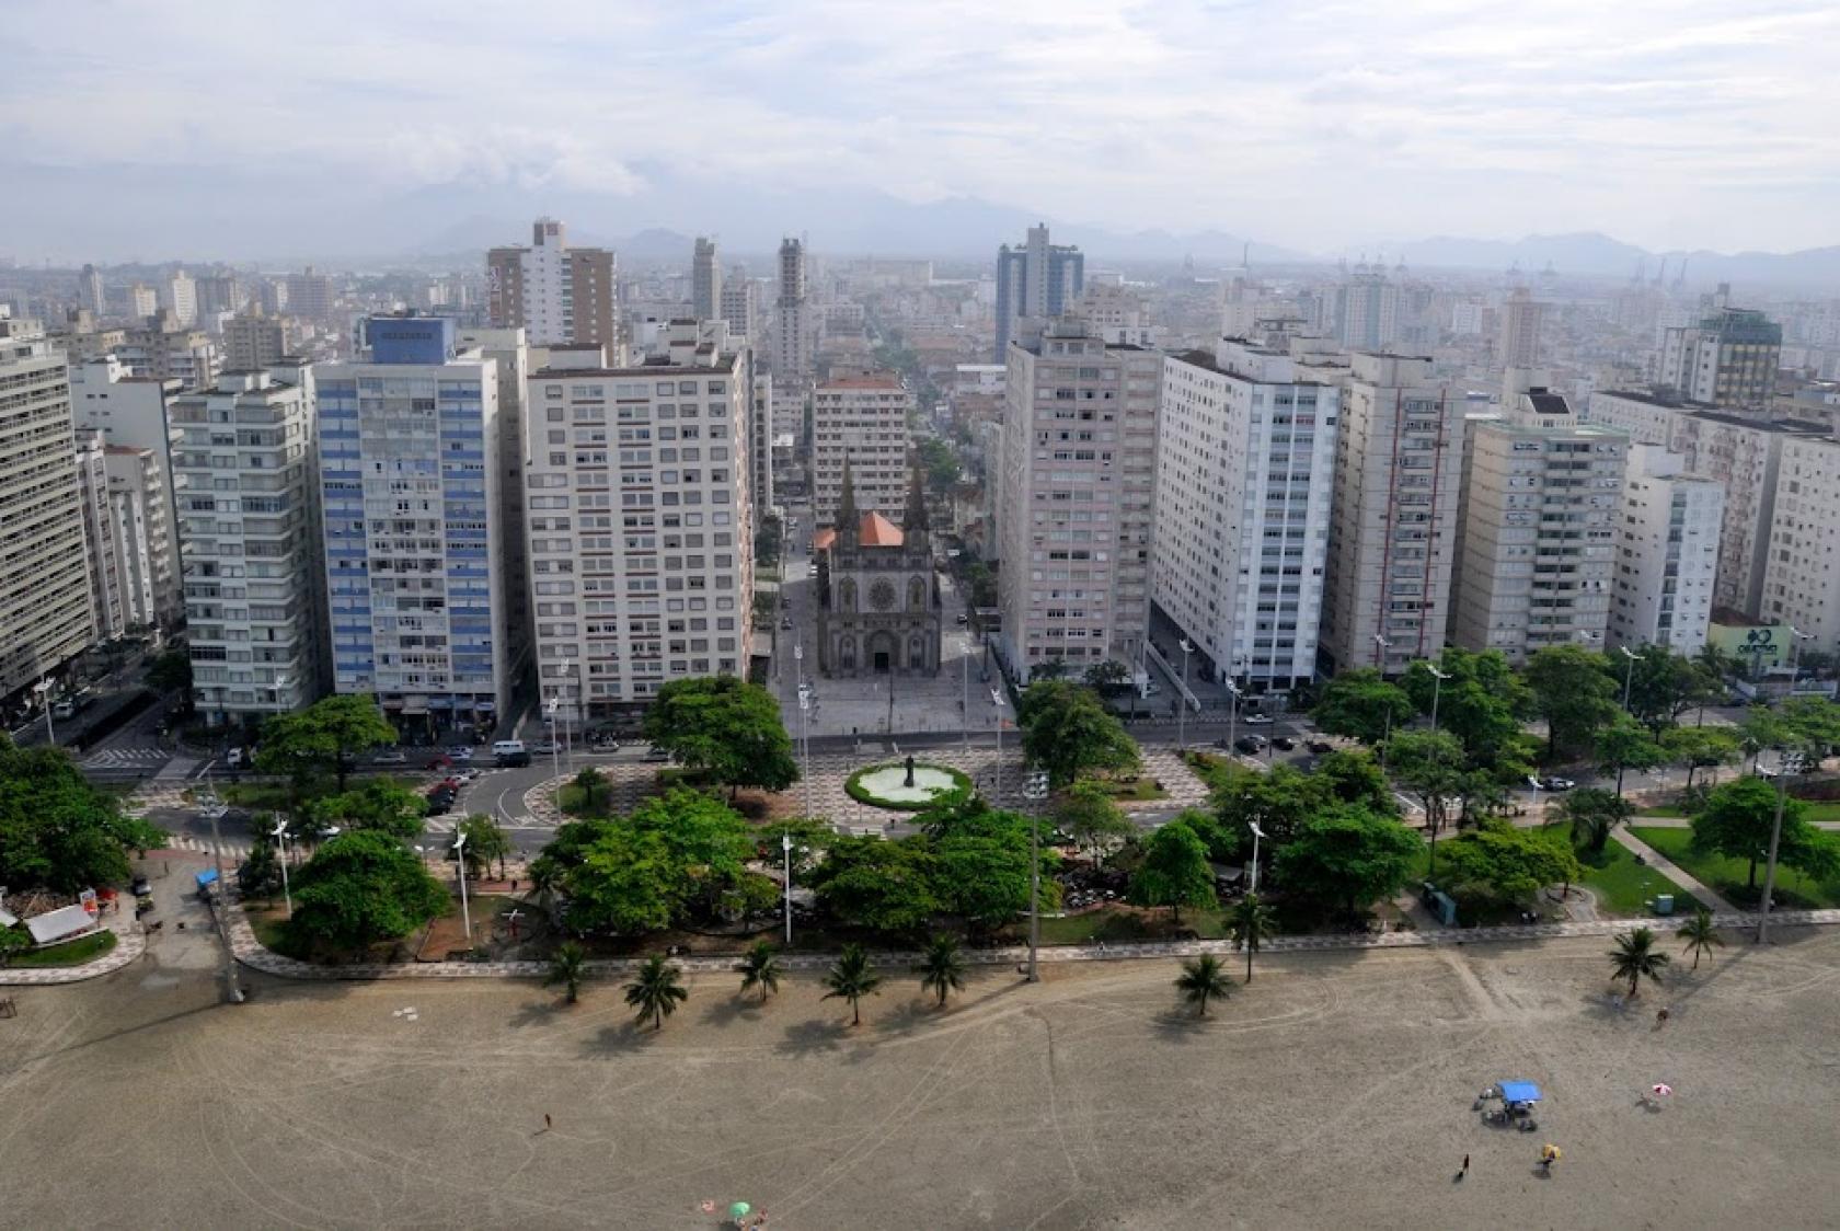
[[[1678,453],[1630,447],[1617,519],[1612,644],[1698,653],[1713,615],[1722,515],[1724,489],[1687,475]]]

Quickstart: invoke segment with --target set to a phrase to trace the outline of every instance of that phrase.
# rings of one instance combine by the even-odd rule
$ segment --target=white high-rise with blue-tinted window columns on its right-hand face
[[[1316,673],[1340,412],[1341,386],[1288,351],[1227,340],[1163,366],[1152,598],[1203,675]]]

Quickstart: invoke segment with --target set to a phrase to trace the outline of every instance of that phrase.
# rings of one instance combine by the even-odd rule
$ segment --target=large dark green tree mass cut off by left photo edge
[[[0,732],[0,885],[77,892],[129,880],[127,852],[166,846],[166,834],[121,815],[63,749],[18,749]]]

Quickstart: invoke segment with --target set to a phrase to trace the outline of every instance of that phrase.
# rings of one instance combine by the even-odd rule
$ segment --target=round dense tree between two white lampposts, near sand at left
[[[355,830],[322,843],[294,874],[289,931],[309,948],[362,949],[407,937],[449,907],[447,891],[399,841]]]

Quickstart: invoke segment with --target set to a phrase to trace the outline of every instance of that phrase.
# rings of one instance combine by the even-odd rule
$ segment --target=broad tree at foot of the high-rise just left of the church
[[[799,780],[780,703],[734,675],[694,675],[659,688],[646,738],[690,769],[730,788],[784,791]]]

